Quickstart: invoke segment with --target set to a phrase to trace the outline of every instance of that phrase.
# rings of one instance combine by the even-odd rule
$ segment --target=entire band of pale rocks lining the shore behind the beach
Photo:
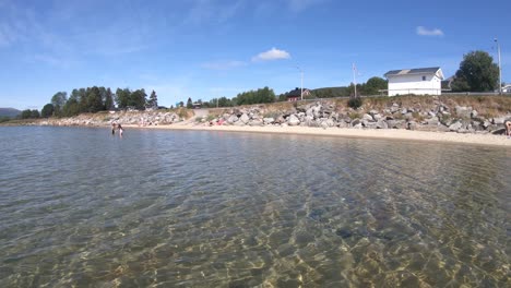
[[[157,127],[171,124],[234,125],[234,127],[308,127],[346,128],[364,130],[414,130],[473,134],[503,134],[504,121],[511,112],[488,117],[471,106],[449,106],[433,99],[429,105],[402,105],[389,100],[380,109],[363,106],[358,109],[338,105],[335,100],[306,104],[286,103],[209,110],[154,110],[84,113],[72,118],[38,120],[37,125],[107,127],[112,122],[123,125]]]

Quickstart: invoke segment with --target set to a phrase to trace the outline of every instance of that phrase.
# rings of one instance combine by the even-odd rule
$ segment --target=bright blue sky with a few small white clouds
[[[511,82],[511,1],[0,0],[0,107],[41,109],[87,86],[159,105],[269,86],[348,85],[488,51]]]

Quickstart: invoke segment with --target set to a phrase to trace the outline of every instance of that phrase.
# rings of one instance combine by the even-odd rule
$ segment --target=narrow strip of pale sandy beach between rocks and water
[[[429,141],[456,144],[476,144],[511,147],[511,139],[504,135],[472,134],[455,132],[427,132],[397,129],[348,129],[348,128],[310,128],[310,127],[236,127],[236,125],[204,125],[192,123],[175,123],[171,125],[128,125],[138,129],[169,129],[169,130],[198,130],[198,131],[225,131],[245,133],[276,133],[301,134],[317,136],[341,136],[363,139],[387,139],[405,141]]]

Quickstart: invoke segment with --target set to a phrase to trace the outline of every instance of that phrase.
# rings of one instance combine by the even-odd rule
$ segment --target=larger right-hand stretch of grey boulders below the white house
[[[269,112],[263,106],[234,108],[215,116],[212,122],[226,125],[301,125],[354,129],[408,129],[421,131],[453,131],[457,133],[502,133],[506,115],[486,119],[472,107],[448,107],[435,100],[432,108],[403,107],[391,103],[382,110],[335,107],[328,101],[316,101],[289,110]]]

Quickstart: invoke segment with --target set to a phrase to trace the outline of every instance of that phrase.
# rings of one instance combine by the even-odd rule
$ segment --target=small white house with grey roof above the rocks
[[[384,74],[389,80],[389,96],[396,95],[440,95],[443,80],[439,67],[392,70]]]

